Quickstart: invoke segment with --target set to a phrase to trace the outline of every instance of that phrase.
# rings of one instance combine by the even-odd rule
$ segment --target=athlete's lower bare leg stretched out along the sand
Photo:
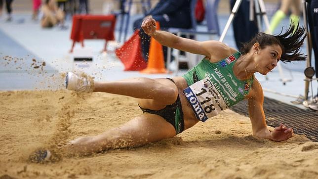
[[[71,141],[62,152],[66,155],[89,155],[106,149],[135,147],[176,135],[174,127],[162,117],[142,114],[121,127],[103,134],[85,136]]]

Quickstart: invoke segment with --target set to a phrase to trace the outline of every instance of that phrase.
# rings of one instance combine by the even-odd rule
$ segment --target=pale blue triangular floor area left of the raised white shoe
[[[0,30],[0,89],[58,89],[58,71]],[[57,83],[56,83],[57,82]]]

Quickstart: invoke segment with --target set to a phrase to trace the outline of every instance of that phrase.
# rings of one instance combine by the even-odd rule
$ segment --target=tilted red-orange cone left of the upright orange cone
[[[117,57],[125,66],[125,71],[139,71],[147,67],[147,63],[141,54],[139,30],[136,30],[131,38],[116,50]]]

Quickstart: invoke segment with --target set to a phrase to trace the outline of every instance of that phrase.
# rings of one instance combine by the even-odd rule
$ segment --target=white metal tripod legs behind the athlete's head
[[[233,7],[232,12],[231,12],[231,15],[230,15],[230,17],[229,17],[229,19],[228,19],[228,21],[227,21],[227,23],[225,25],[225,28],[224,28],[224,30],[222,32],[222,35],[221,35],[220,39],[219,39],[220,42],[223,42],[224,37],[225,37],[226,33],[228,32],[229,27],[230,27],[230,25],[231,25],[231,23],[232,23],[232,21],[234,19],[234,16],[238,12],[238,7],[241,4],[241,2],[242,2],[242,0],[237,0],[235,2],[234,7]],[[269,19],[267,17],[266,8],[265,8],[265,4],[264,4],[263,0],[250,0],[250,5],[249,5],[249,12],[250,12],[249,13],[250,14],[249,19],[250,19],[250,21],[254,20],[254,8],[253,8],[254,7],[254,3],[255,3],[255,11],[256,11],[258,29],[259,30],[263,29],[262,28],[262,24],[261,24],[261,15],[262,15],[262,17],[264,19],[264,22],[265,22],[265,25],[266,25],[266,29],[269,29],[270,28],[270,21],[269,21]],[[281,79],[283,85],[285,85],[286,82],[290,82],[291,79],[284,78],[284,73],[282,71],[282,68],[281,68],[280,64],[278,63],[277,66],[278,66],[280,79]],[[265,76],[265,78],[266,78],[266,80],[268,80],[267,76]]]

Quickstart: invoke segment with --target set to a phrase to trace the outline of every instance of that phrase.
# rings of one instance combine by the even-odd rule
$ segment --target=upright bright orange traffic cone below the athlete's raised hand
[[[157,29],[160,29],[159,22],[156,22]],[[164,58],[162,45],[154,38],[151,38],[149,47],[149,58],[147,68],[140,71],[141,73],[168,73],[164,67]]]

